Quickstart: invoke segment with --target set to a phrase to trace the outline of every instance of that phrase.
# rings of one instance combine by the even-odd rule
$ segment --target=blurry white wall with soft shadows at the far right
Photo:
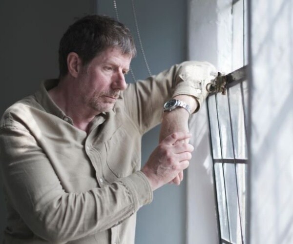
[[[250,1],[250,243],[293,243],[293,0]]]

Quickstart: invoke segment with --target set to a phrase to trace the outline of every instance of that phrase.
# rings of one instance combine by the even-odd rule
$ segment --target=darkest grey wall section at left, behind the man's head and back
[[[0,114],[58,76],[59,40],[76,17],[94,13],[93,0],[0,1]],[[2,187],[1,187],[2,188]],[[0,242],[5,207],[0,191]]]

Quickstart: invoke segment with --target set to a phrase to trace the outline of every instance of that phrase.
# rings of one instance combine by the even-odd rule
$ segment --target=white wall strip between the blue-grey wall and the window
[[[188,55],[209,61],[217,70],[232,68],[231,0],[188,0]],[[195,150],[188,168],[188,244],[217,244],[213,163],[206,103],[190,121]]]

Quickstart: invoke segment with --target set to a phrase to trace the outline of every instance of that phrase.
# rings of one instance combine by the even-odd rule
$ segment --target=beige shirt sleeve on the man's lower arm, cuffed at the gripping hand
[[[9,203],[37,236],[49,242],[111,228],[152,200],[140,171],[103,188],[66,193],[45,152],[21,124],[0,128],[0,165]]]

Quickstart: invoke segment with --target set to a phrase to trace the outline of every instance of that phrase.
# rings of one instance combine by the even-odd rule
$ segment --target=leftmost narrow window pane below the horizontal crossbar
[[[221,237],[223,239],[230,240],[222,163],[215,163],[214,170],[215,170],[215,176],[216,176],[216,188],[217,188],[217,200],[218,200],[218,209],[219,209]]]

